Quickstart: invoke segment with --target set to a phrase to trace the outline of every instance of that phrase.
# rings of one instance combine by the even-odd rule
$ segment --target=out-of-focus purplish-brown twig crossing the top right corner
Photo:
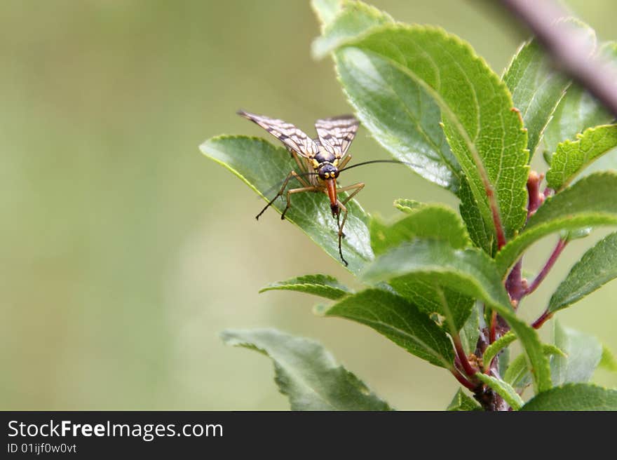
[[[583,33],[555,26],[557,20],[571,14],[550,0],[503,0],[503,4],[534,32],[560,69],[617,116],[617,68],[602,57],[591,55]]]

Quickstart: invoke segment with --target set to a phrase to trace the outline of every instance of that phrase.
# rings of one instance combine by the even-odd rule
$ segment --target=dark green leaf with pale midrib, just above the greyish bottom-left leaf
[[[453,368],[454,351],[449,337],[418,306],[399,295],[364,290],[318,313],[372,327],[409,353],[434,365]]]

